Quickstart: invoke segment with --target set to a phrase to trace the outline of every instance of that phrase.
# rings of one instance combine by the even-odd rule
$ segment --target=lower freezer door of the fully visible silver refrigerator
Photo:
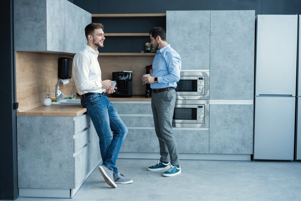
[[[294,97],[255,97],[254,159],[293,160]]]

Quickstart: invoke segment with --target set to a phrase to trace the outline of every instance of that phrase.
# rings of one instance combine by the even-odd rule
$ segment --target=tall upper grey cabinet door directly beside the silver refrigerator
[[[255,11],[210,11],[210,99],[253,100],[254,30]]]

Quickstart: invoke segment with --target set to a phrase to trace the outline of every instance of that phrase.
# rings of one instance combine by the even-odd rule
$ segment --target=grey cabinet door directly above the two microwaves
[[[166,11],[166,40],[181,56],[183,70],[208,70],[210,11]]]

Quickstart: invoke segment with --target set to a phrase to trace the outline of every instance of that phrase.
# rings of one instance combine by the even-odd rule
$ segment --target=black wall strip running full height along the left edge
[[[0,1],[0,199],[19,196],[17,182],[17,123],[14,102],[13,0]]]

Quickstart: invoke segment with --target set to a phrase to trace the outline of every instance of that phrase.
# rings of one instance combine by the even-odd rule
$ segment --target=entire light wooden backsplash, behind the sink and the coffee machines
[[[16,52],[16,98],[19,109],[43,102],[46,93],[55,97],[58,58],[61,55],[39,52]],[[146,73],[145,66],[152,64],[154,56],[98,56],[102,80],[112,80],[112,72],[133,71],[132,94],[144,95],[145,85],[141,77]],[[73,77],[68,84],[60,83],[62,93],[70,95],[74,84]],[[72,93],[76,93],[74,86]]]

